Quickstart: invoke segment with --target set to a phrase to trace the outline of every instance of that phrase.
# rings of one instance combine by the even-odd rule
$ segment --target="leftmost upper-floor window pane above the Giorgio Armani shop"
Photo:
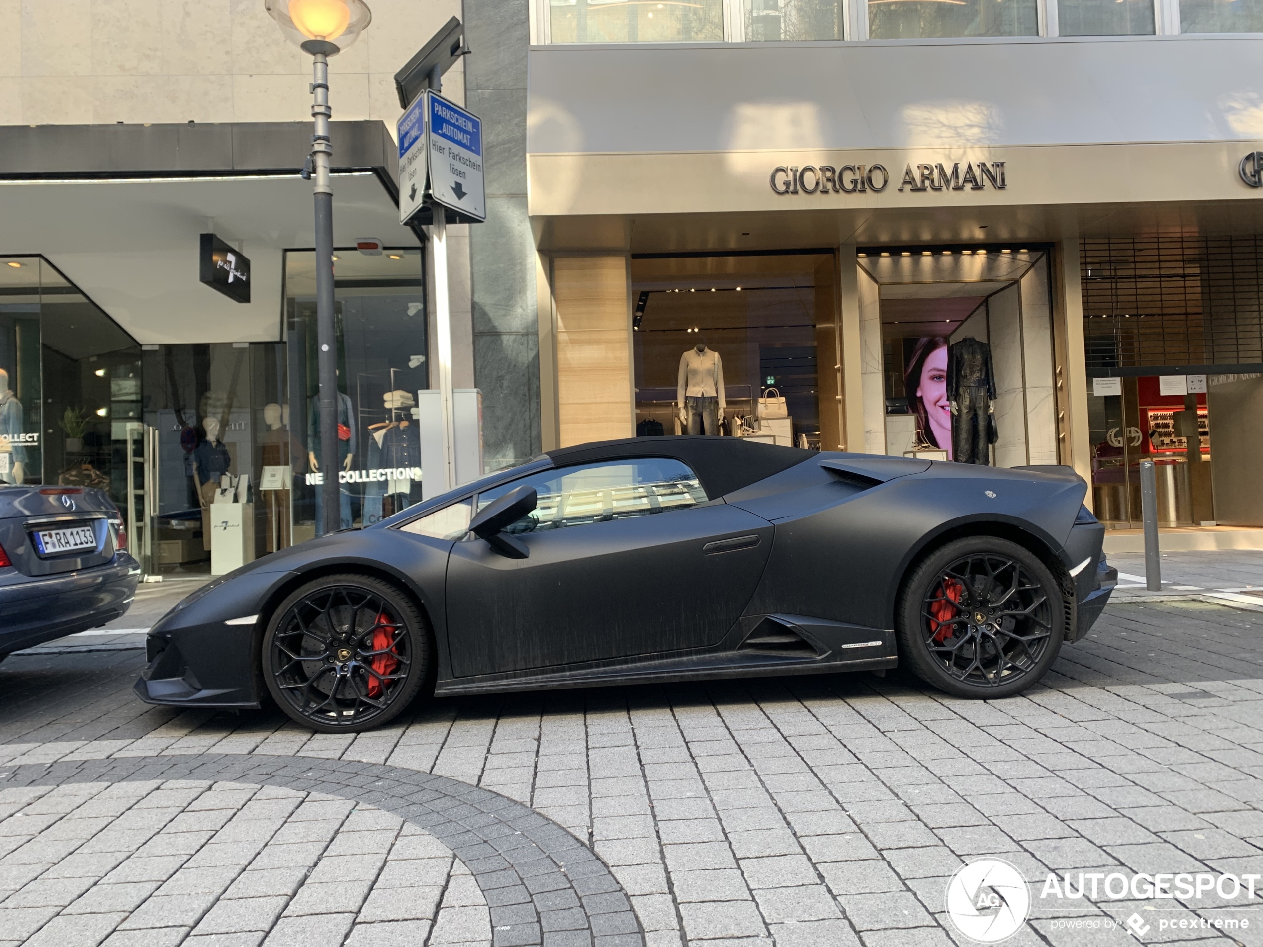
[[[724,0],[549,0],[553,43],[721,43]]]

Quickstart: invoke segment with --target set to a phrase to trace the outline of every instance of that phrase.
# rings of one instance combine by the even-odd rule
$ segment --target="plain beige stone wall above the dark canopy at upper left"
[[[481,57],[485,63],[514,66],[520,77],[493,78],[484,88],[524,90],[525,39],[500,49],[498,37],[512,32],[518,19],[524,30],[525,6],[501,5],[493,34],[480,44]],[[373,24],[330,61],[335,117],[380,119],[393,129],[400,111],[394,73],[460,13],[458,0],[426,5],[375,0]],[[9,90],[0,124],[308,121],[311,116],[311,58],[282,35],[260,0],[0,0],[0,35],[14,38],[11,53],[0,62],[0,77],[32,80]],[[464,69],[462,62],[445,76],[443,95],[457,102],[465,101]],[[105,87],[87,88],[85,96],[80,86],[34,81],[57,76],[91,76]],[[164,77],[169,87],[115,81],[144,76]],[[196,76],[216,82],[189,81]],[[78,95],[78,101],[67,100],[68,95]]]

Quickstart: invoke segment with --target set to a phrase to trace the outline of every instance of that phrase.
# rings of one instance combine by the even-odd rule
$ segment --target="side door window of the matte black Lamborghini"
[[[538,505],[509,527],[508,533],[647,516],[696,506],[707,499],[687,465],[666,457],[644,457],[543,471],[479,494],[477,508],[523,485],[536,489]]]

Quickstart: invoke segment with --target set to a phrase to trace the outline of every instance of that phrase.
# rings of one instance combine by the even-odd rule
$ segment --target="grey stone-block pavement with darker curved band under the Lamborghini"
[[[1110,606],[999,702],[764,678],[443,700],[360,736],[144,707],[134,650],[14,655],[0,944],[930,947],[965,943],[943,891],[981,855],[1263,875],[1260,628]],[[1147,942],[1263,944],[1259,903],[1036,896],[1008,943],[1135,943],[1104,926],[1135,914]],[[1249,927],[1159,933],[1197,918]]]

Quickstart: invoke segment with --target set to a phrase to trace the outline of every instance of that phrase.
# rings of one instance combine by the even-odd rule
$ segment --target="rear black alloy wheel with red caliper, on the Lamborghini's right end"
[[[1009,697],[1043,677],[1066,629],[1048,567],[1007,539],[971,537],[935,551],[901,600],[901,657],[959,697]]]

